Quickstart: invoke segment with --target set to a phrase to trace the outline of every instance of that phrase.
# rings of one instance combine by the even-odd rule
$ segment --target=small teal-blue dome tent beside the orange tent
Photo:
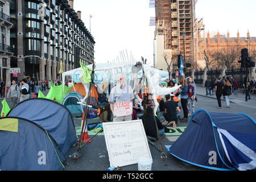
[[[71,111],[73,117],[81,117],[84,113],[84,106],[77,104],[80,102],[82,96],[78,92],[69,93],[63,100],[62,105],[68,108]]]

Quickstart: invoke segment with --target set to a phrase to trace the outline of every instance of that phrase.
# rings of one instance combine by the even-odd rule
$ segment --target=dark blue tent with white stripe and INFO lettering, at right
[[[246,114],[198,110],[169,151],[184,162],[221,171],[256,169],[256,122]]]

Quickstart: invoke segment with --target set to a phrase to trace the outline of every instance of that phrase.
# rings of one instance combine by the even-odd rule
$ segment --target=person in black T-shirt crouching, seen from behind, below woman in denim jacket
[[[171,100],[170,94],[166,96],[167,102],[164,103],[164,111],[163,117],[168,122],[167,126],[177,127],[177,111],[180,112],[180,107],[177,105],[177,102]]]

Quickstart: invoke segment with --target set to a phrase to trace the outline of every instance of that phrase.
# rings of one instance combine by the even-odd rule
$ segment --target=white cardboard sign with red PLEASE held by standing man
[[[116,117],[133,114],[133,102],[116,102],[114,104],[114,115]]]

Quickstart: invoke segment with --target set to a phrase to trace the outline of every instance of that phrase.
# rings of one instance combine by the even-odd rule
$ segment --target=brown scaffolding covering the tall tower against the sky
[[[164,49],[171,49],[173,56],[184,55],[185,48],[186,60],[191,63],[196,60],[195,3],[195,0],[155,1],[155,35],[164,35]]]

